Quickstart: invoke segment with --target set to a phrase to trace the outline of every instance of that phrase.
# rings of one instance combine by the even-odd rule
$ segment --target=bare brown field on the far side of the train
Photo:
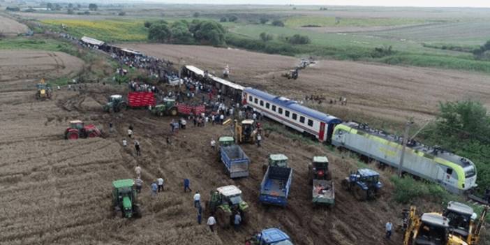
[[[348,106],[311,105],[342,119],[352,115],[404,121],[420,121],[436,113],[439,101],[466,98],[482,101],[490,107],[490,76],[434,68],[363,64],[352,61],[320,60],[315,66],[299,71],[297,80],[281,77],[296,66],[299,59],[281,55],[259,54],[244,50],[188,45],[126,45],[135,50],[221,74],[230,65],[230,80],[259,87],[273,94],[304,100],[306,95],[320,95],[326,102],[347,98]],[[181,63],[182,64],[182,63]]]

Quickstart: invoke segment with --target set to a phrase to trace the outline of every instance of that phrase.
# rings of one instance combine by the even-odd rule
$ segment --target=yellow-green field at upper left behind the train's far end
[[[106,42],[147,40],[148,30],[144,20],[41,20],[54,29],[77,37],[89,36]]]

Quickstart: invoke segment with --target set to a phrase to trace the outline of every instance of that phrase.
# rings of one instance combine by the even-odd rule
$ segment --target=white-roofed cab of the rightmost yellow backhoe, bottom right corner
[[[470,222],[473,214],[473,208],[468,205],[451,201],[447,204],[443,216],[449,218],[452,233],[466,240],[470,232]]]

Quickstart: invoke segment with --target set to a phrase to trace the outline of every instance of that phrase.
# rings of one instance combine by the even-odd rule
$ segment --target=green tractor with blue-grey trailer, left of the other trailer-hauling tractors
[[[225,170],[230,178],[248,177],[250,159],[242,147],[235,144],[235,139],[230,136],[223,136],[219,138],[218,142],[221,162],[225,165]]]

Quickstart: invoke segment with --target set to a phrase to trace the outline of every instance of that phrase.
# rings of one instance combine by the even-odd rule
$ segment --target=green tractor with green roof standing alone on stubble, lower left
[[[140,218],[140,205],[136,203],[136,188],[133,179],[112,181],[112,208],[114,216]]]

